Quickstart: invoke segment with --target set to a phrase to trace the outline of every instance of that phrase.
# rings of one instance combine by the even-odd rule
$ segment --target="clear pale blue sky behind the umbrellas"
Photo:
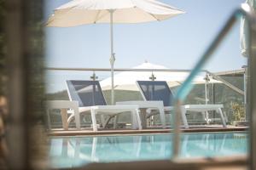
[[[67,0],[45,0],[44,21]],[[170,69],[192,69],[230,15],[244,0],[160,0],[185,14],[142,24],[115,24],[115,68],[131,68],[145,60]],[[205,65],[208,71],[241,69],[240,23]],[[109,68],[108,24],[45,28],[46,66]],[[55,73],[61,74],[61,73]],[[63,73],[64,74],[64,73]]]

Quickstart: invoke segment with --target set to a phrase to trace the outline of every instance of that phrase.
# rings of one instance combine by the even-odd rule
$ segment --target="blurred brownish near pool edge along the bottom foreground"
[[[67,168],[68,169],[68,168]],[[161,161],[133,161],[113,163],[90,163],[85,167],[72,169],[122,169],[122,170],[247,170],[247,156],[225,156],[215,158],[195,158],[182,160],[161,160]]]

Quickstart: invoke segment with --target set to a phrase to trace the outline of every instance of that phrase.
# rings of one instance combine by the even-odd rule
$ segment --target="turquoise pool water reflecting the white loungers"
[[[52,167],[79,167],[90,162],[170,159],[172,134],[49,139]],[[247,133],[183,133],[180,156],[236,156],[247,153]]]

